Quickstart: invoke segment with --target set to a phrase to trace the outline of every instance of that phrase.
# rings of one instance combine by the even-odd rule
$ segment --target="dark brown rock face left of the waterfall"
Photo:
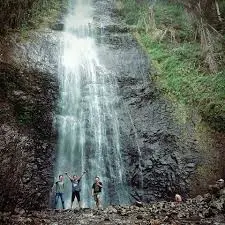
[[[45,55],[42,46],[48,39],[43,37],[40,33],[36,40],[39,45],[35,41],[29,45],[14,43],[13,38],[1,45],[0,210],[48,206],[57,136],[53,119],[58,84],[56,62],[46,63],[51,55],[39,57],[46,63],[39,64],[42,70],[35,66],[36,56],[40,52]],[[27,49],[31,51],[28,53]],[[47,48],[45,51],[49,53]]]

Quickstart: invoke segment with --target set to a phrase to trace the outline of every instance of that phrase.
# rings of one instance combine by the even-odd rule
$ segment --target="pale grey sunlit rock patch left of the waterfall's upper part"
[[[0,40],[0,61],[21,71],[38,71],[57,77],[62,34],[45,28],[25,37],[11,34]]]

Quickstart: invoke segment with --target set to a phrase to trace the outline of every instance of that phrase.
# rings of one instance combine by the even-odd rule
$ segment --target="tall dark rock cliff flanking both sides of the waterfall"
[[[181,123],[113,3],[93,4],[98,56],[118,84],[121,152],[131,200],[205,190],[224,174],[224,135],[200,129],[195,113]],[[48,206],[57,143],[60,38],[60,32],[45,29],[30,32],[23,41],[18,35],[1,40],[0,210]]]

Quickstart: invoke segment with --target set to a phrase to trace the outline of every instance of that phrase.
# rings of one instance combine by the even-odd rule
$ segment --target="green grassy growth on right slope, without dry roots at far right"
[[[123,1],[121,8],[125,21],[136,25],[137,40],[157,69],[154,78],[165,95],[187,108],[194,107],[212,127],[225,130],[224,65],[217,73],[209,72],[201,44],[195,39],[195,27],[183,7],[158,1],[154,18],[146,3],[137,6],[135,0]],[[151,20],[154,29],[140,29],[140,21],[146,26]]]

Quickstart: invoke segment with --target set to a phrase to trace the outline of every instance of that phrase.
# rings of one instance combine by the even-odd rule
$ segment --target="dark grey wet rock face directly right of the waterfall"
[[[170,199],[175,192],[185,195],[199,159],[194,128],[173,120],[172,105],[151,80],[147,55],[122,29],[114,6],[100,0],[96,5],[100,15],[96,21],[105,27],[99,38],[99,55],[107,68],[115,71],[118,83],[121,150],[131,196],[149,202]],[[185,138],[184,130],[188,130]]]

